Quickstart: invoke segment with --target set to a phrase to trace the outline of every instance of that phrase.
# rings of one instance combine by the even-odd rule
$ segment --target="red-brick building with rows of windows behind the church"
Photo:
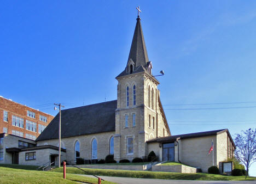
[[[35,140],[54,116],[0,96],[0,133]]]

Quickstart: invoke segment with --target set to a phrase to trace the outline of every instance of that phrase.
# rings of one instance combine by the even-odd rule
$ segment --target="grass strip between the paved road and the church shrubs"
[[[97,176],[117,176],[117,177],[137,177],[148,179],[168,179],[168,180],[225,180],[225,181],[241,181],[245,180],[245,176],[224,176],[218,174],[183,174],[169,172],[153,172],[153,171],[133,171],[133,170],[111,170],[111,169],[87,169],[82,168],[91,174]],[[51,170],[53,172],[62,172],[62,168]],[[66,168],[67,173],[84,174],[82,170],[77,168]],[[256,180],[256,177],[247,177],[246,180]]]

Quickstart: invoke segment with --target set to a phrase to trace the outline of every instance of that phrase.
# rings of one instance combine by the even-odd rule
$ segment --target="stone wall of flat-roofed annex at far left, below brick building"
[[[18,137],[18,136],[13,136],[11,134],[4,134],[4,140],[3,140],[3,148],[4,148],[3,157],[4,157],[4,160],[0,161],[0,163],[7,163],[7,164],[12,163],[11,153],[6,152],[5,149],[6,148],[19,148],[19,140],[22,140],[22,141],[27,142],[27,143],[36,144],[36,142],[34,142],[34,140],[30,140],[30,139],[26,139],[26,138],[22,138],[22,137]]]

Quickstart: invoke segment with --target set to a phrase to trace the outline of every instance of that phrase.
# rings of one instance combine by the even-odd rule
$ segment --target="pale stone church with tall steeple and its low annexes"
[[[152,69],[138,16],[127,63],[116,77],[117,100],[61,111],[62,161],[101,160],[113,154],[118,162],[154,151],[159,162],[182,162],[207,171],[212,164],[220,167],[220,162],[232,157],[236,147],[226,129],[172,136],[160,100],[160,83]],[[8,136],[2,135],[3,148]],[[212,142],[214,157],[208,156]],[[19,152],[19,164],[56,161],[57,165],[59,114],[33,144],[36,146],[7,150]]]

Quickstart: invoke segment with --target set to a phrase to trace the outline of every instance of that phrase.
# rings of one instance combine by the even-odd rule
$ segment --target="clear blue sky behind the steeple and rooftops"
[[[2,1],[0,95],[52,115],[117,99],[137,5],[171,133],[255,128],[256,1]]]

